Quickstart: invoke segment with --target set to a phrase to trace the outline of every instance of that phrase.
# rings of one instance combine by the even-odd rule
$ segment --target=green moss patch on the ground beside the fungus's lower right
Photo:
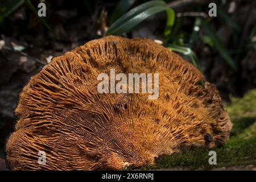
[[[233,165],[249,165],[256,161],[256,89],[245,94],[243,98],[231,98],[226,106],[233,129],[230,139],[224,147],[214,148],[217,165],[210,165],[209,150],[196,150],[184,154],[163,156],[156,160],[155,166],[142,169],[163,169],[184,166],[185,169],[212,169]]]

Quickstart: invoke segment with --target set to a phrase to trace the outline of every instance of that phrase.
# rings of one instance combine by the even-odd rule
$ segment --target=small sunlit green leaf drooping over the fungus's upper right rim
[[[199,69],[199,71],[201,71],[200,65],[198,63],[197,56],[191,50],[191,48],[189,48],[189,47],[181,47],[181,46],[176,46],[176,45],[171,45],[171,44],[168,44],[167,48],[170,49],[171,51],[179,52],[179,53],[181,53],[181,54],[183,54],[185,56],[189,56],[191,58],[191,61],[192,61],[193,65],[195,65],[195,67],[197,69]]]

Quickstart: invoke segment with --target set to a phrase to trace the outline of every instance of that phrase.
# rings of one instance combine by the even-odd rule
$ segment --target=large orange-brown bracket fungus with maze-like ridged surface
[[[159,73],[158,99],[98,93],[97,76],[112,68]],[[138,168],[158,156],[221,146],[232,129],[216,87],[192,64],[150,39],[118,36],[53,58],[24,86],[15,117],[5,148],[14,170]]]

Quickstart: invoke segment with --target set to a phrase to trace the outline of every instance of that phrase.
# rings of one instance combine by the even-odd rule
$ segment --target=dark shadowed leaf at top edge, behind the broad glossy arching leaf
[[[128,11],[130,9],[130,7],[133,6],[135,1],[136,0],[121,0],[121,1],[119,1],[119,3],[117,4],[117,6],[115,6],[115,9],[111,15],[109,24],[110,25],[113,24],[115,22],[115,20],[117,20],[120,16],[125,14],[126,11]]]

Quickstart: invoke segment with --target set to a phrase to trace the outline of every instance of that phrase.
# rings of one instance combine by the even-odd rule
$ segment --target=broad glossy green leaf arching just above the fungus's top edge
[[[149,1],[130,10],[109,27],[105,36],[121,35],[130,32],[135,26],[148,17],[169,9],[163,1]]]

